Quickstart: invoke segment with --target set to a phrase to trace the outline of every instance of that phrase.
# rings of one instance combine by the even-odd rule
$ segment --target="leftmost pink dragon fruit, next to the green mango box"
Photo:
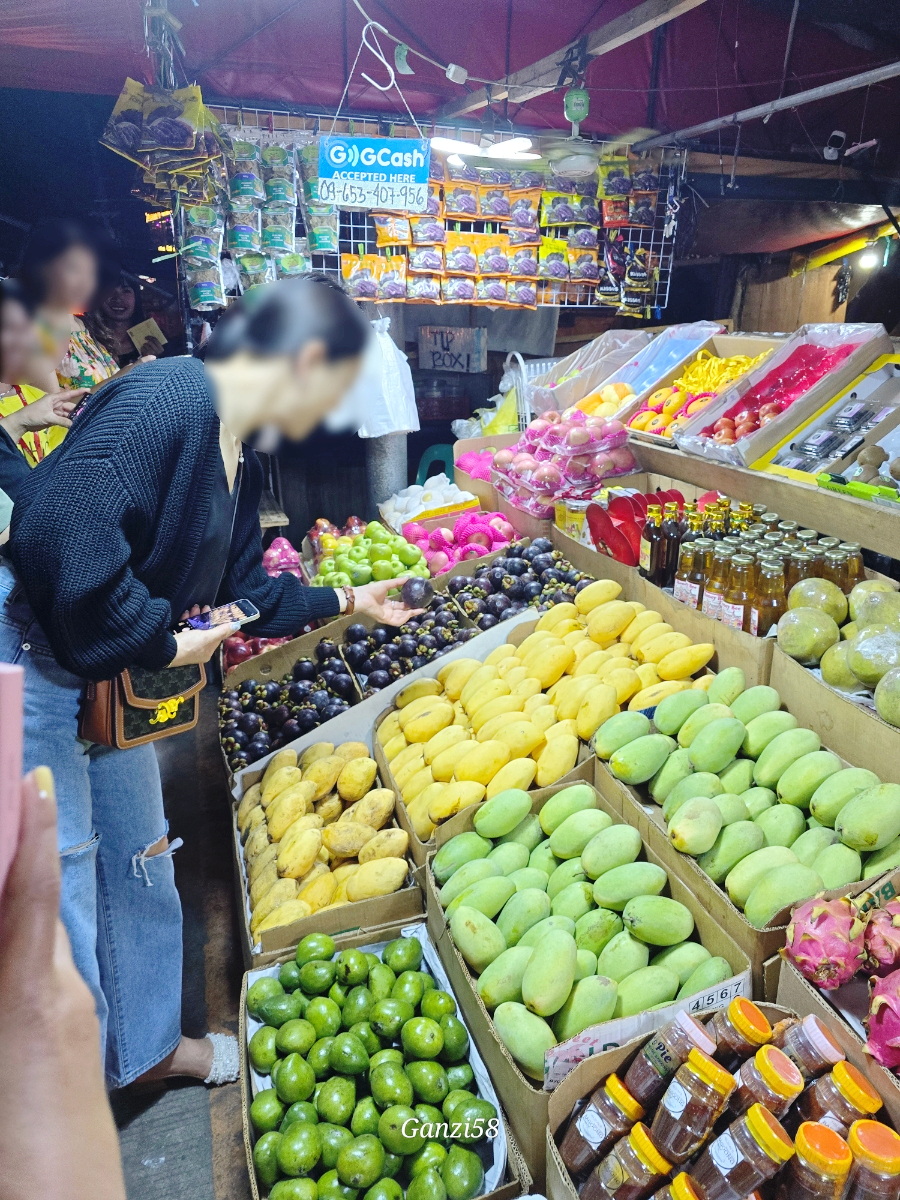
[[[806,900],[791,914],[781,953],[824,991],[840,988],[863,965],[865,923],[848,896]]]

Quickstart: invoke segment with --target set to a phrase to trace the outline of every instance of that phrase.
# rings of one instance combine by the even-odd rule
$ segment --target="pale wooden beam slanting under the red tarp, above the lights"
[[[676,17],[680,17],[682,13],[690,12],[691,8],[697,8],[702,4],[706,4],[706,0],[644,0],[643,4],[631,8],[630,12],[623,13],[606,25],[601,25],[600,29],[595,29],[593,34],[588,34],[587,53],[592,58],[608,54],[610,50],[616,50],[619,46],[625,46],[628,42],[634,42],[636,38],[643,37],[644,34],[652,32],[660,25],[665,25]],[[542,96],[547,91],[553,91],[559,78],[559,66],[565,58],[566,50],[574,49],[577,44],[578,40],[570,42],[557,50],[556,54],[548,54],[546,58],[540,59],[540,61],[533,62],[521,71],[515,71],[508,80],[498,79],[497,83],[491,85],[491,102],[505,100],[509,96],[514,104],[524,104],[535,96]],[[438,113],[436,120],[448,121],[456,116],[464,116],[466,113],[474,113],[479,108],[485,108],[487,103],[487,89],[479,88],[478,91],[469,92],[468,96],[446,104]]]

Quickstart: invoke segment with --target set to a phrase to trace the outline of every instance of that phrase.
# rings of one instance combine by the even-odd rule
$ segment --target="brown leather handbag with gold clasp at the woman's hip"
[[[130,667],[115,679],[89,683],[78,714],[78,737],[128,750],[192,730],[206,683],[202,664],[145,671]]]

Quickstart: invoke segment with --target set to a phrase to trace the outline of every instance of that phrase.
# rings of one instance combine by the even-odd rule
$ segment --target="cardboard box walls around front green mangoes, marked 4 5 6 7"
[[[565,786],[568,785],[563,782],[556,784],[553,787],[546,788],[546,792],[552,796],[556,794],[556,792],[562,791]],[[547,799],[548,796],[545,796],[540,800],[535,800],[532,806],[532,811],[540,811]],[[618,820],[620,822],[620,812],[617,812],[614,806],[608,804],[602,794],[598,796],[598,806],[608,812],[614,821]],[[457,833],[463,833],[474,828],[470,809],[460,814],[458,817],[455,817],[454,820],[458,822],[456,827]],[[665,868],[665,863],[661,862],[661,859],[648,845],[644,845],[644,854],[649,862]],[[440,900],[438,898],[437,883],[431,872],[431,857],[432,856],[430,856],[428,866],[426,868],[425,880],[428,928],[438,943],[438,952],[440,953],[446,972],[450,976],[455,995],[462,1004],[462,1012],[466,1021],[475,1032],[479,1049],[481,1050],[485,1062],[487,1063],[487,1068],[491,1072],[491,1076],[494,1081],[497,1091],[499,1092],[500,1100],[504,1103],[504,1106],[509,1112],[512,1132],[515,1133],[518,1144],[524,1150],[526,1159],[534,1177],[535,1186],[541,1188],[544,1186],[546,1169],[545,1129],[547,1124],[547,1109],[552,1093],[539,1088],[534,1080],[528,1079],[520,1070],[506,1048],[497,1037],[491,1015],[481,1002],[481,997],[475,989],[475,980],[470,974],[462,955],[456,949],[456,946],[450,936],[450,930],[445,925],[444,912],[440,907]],[[700,940],[703,944],[707,946],[714,955],[721,955],[727,959],[734,971],[732,979],[726,980],[721,988],[713,989],[714,995],[706,994],[703,997],[704,1001],[707,1001],[706,1003],[700,1004],[695,1000],[692,1007],[721,1007],[724,1003],[731,1001],[736,995],[750,996],[750,964],[744,952],[737,946],[727,931],[719,928],[713,917],[710,917],[706,911],[703,904],[674,874],[670,875],[667,890],[676,900],[680,900],[682,904],[690,908],[696,923],[696,931],[698,932]],[[684,1004],[678,1007],[684,1007]],[[660,1012],[664,1016],[667,1016],[674,1010],[676,1006],[672,1006],[671,1008],[661,1009]],[[574,1038],[565,1044],[565,1052],[559,1051],[558,1061],[553,1066],[554,1074],[558,1076],[565,1076],[568,1072],[572,1069],[578,1058],[598,1054],[599,1049],[605,1049],[608,1045],[614,1044],[618,1038],[629,1039],[634,1033],[652,1031],[658,1027],[658,1013],[644,1013],[632,1019],[607,1021],[605,1025],[586,1030],[583,1033],[578,1034],[577,1038]],[[553,1054],[554,1051],[548,1052],[548,1061]],[[545,1085],[545,1087],[547,1085]]]

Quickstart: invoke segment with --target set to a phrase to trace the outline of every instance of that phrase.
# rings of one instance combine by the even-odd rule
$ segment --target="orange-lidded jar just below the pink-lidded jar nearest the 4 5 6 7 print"
[[[733,1075],[702,1050],[691,1050],[653,1117],[650,1138],[660,1154],[685,1163],[713,1132],[733,1091]]]

